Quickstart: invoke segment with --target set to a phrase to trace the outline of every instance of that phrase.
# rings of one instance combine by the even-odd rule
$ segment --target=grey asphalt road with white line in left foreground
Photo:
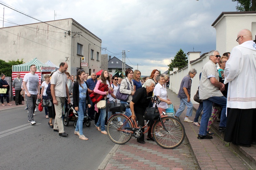
[[[37,124],[30,125],[24,107],[0,111],[0,169],[95,170],[115,145],[94,121],[83,127],[85,141],[74,135],[73,122],[64,126],[69,136],[60,137],[44,111],[35,114]]]

